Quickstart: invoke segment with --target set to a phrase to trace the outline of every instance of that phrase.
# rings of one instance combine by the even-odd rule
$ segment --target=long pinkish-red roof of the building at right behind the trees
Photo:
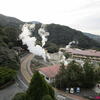
[[[80,50],[80,49],[70,48],[70,49],[67,49],[66,51],[71,52],[72,54],[100,57],[100,51],[96,51],[96,50]]]

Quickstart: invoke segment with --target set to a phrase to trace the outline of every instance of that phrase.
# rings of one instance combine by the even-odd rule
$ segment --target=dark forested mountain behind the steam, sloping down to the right
[[[33,32],[33,36],[37,36],[38,39],[40,38],[37,34],[37,30],[40,28],[40,26],[40,24],[37,24],[35,32]],[[100,47],[100,43],[84,35],[81,31],[77,31],[67,26],[48,24],[47,31],[50,33],[50,35],[48,36],[48,42],[46,45],[49,43],[54,43],[57,46],[66,46],[69,42],[74,40],[78,41],[77,47],[79,48],[88,49]]]

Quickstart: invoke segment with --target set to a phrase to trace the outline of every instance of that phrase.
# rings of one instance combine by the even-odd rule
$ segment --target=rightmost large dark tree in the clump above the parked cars
[[[84,88],[92,88],[95,86],[98,81],[98,75],[95,72],[95,66],[91,64],[91,62],[86,61],[83,66],[83,78],[82,78],[82,87]]]

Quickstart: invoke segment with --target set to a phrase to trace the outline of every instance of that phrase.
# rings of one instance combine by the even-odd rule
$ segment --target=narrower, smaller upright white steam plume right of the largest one
[[[41,36],[42,38],[42,47],[45,45],[46,41],[47,41],[47,36],[49,36],[49,32],[45,31],[45,27],[46,25],[42,24],[41,28],[38,30],[38,34]]]

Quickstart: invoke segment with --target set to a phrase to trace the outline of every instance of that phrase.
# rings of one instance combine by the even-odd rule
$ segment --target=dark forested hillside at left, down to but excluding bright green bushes
[[[19,59],[13,47],[18,46],[20,25],[23,22],[0,14],[0,67],[19,68]]]

